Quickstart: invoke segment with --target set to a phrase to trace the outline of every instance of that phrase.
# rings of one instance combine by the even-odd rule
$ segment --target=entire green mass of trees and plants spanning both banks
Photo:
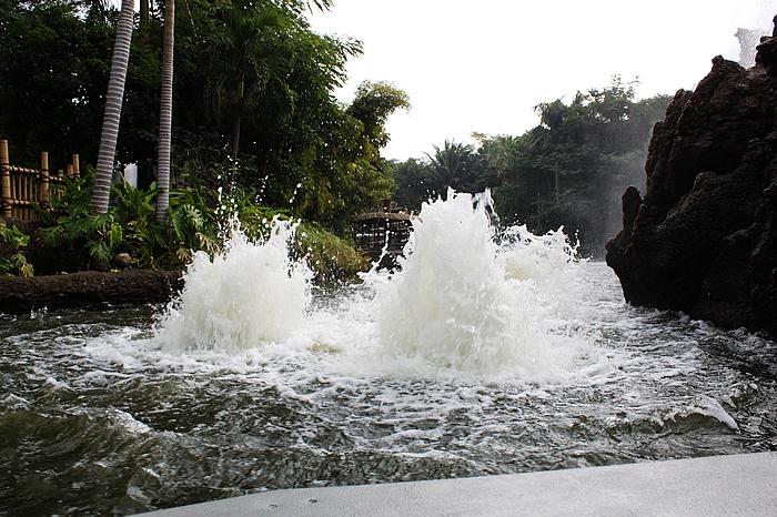
[[[386,162],[386,121],[410,100],[386,81],[363,82],[349,104],[334,98],[362,45],[311,30],[310,9],[331,4],[186,0],[172,21],[172,0],[151,9],[141,1],[141,17],[119,32],[132,51],[115,150],[103,151],[97,186],[93,175],[70,182],[54,213],[42,213],[46,246],[71,257],[67,268],[119,252],[133,266],[178,267],[192,251],[218,250],[219,221],[236,216],[259,237],[273,216],[299,217],[309,242],[297,249],[330,267],[345,254],[316,246],[331,250],[331,231],[347,236],[350,216],[384,199],[417,211],[448,189],[492,189],[505,224],[535,233],[564,225],[588,253],[602,250],[619,222],[620,192],[644,184],[647,140],[668,98],[638,101],[636,82],[615,77],[568,102],[538,104],[539,123],[521,135],[475,134],[473,144],[445,141],[421,159]],[[0,136],[20,162],[47,150],[52,163],[72,153],[92,166],[84,169],[99,163],[120,18],[105,2],[0,0],[0,98],[13,100],[0,107]],[[163,48],[172,49],[164,32],[171,38],[173,27],[174,77],[170,91],[165,58],[162,104]],[[160,128],[172,113],[168,150]],[[139,189],[121,182],[114,159],[137,163]],[[342,271],[363,267],[356,255],[343,261],[351,265]]]

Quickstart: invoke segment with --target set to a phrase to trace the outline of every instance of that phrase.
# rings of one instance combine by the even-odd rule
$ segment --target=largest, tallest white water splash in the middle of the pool
[[[381,346],[475,373],[547,372],[564,362],[546,317],[552,302],[568,294],[559,286],[571,247],[563,234],[537,239],[525,227],[507,233],[522,239],[497,244],[491,206],[487,193],[451,192],[425,204],[401,273],[387,282],[365,278],[376,291]]]

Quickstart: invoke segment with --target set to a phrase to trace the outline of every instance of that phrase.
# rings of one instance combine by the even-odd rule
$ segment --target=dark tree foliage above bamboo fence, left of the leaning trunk
[[[113,27],[61,2],[8,2],[0,17],[0,134],[12,159],[94,163]]]

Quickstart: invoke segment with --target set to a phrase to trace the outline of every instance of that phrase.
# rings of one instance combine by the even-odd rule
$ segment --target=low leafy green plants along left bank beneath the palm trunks
[[[188,179],[185,174],[182,178]],[[196,251],[213,256],[223,251],[224,239],[239,223],[240,230],[254,241],[269,237],[274,219],[290,220],[289,211],[275,211],[256,206],[248,192],[231,201],[222,199],[228,209],[218,213],[205,202],[202,186],[191,179],[186,186],[170,190],[168,222],[155,217],[154,197],[159,189],[139,190],[128,183],[113,185],[110,209],[105,214],[94,214],[90,200],[94,171],[89,170],[77,181],[65,181],[53,186],[59,195],[52,197],[51,212],[38,207],[44,227],[38,232],[39,246],[48,254],[46,264],[62,273],[88,268],[113,267],[119,253],[127,253],[132,268],[184,268]],[[231,221],[224,225],[223,221]],[[0,227],[0,236],[12,243],[16,253],[0,261],[0,273],[31,275],[23,251],[29,236],[16,227]],[[369,268],[369,260],[357,253],[347,241],[311,222],[302,222],[290,242],[292,255],[307,262],[322,282],[353,277],[356,272]],[[51,267],[51,266],[50,266]]]

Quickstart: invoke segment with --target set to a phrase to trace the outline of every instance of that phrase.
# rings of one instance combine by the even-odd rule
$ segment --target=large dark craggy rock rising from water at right
[[[647,190],[623,196],[607,264],[635,305],[777,336],[777,38],[722,57],[654,129]]]

